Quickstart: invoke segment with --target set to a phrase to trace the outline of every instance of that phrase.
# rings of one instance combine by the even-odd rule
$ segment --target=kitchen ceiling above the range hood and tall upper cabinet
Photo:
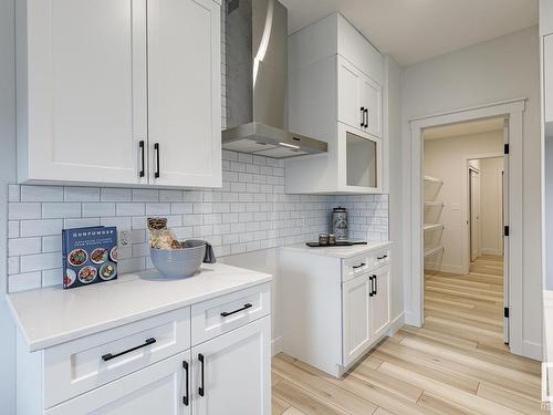
[[[280,0],[289,32],[341,12],[406,66],[538,24],[538,0]]]

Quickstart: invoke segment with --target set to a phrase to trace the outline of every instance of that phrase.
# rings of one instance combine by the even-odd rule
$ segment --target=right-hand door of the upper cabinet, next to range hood
[[[221,186],[220,7],[148,1],[152,183]]]

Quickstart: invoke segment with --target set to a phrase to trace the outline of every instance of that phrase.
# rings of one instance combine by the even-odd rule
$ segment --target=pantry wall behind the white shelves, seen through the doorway
[[[442,256],[430,257],[425,263],[426,268],[453,273],[466,272],[469,255],[467,160],[477,155],[500,154],[502,148],[502,131],[425,141],[425,175],[444,179],[436,200],[445,203],[439,217],[439,222],[445,227],[440,241],[445,250]],[[482,162],[476,162],[478,163],[472,164],[481,168]],[[480,180],[482,183],[482,176]],[[432,215],[436,209],[426,209],[427,216]],[[483,205],[481,210],[483,211]],[[480,220],[481,224],[482,221]],[[428,231],[425,237],[438,238],[439,232]]]

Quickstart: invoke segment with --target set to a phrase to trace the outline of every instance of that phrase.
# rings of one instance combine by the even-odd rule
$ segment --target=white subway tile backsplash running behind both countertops
[[[148,216],[166,217],[179,239],[207,239],[218,256],[315,240],[328,230],[332,208],[338,205],[348,209],[352,238],[388,238],[387,195],[285,195],[283,176],[282,160],[223,151],[222,189],[12,185],[9,289],[61,283],[63,228],[127,230],[128,245],[119,246],[119,273],[152,268]]]

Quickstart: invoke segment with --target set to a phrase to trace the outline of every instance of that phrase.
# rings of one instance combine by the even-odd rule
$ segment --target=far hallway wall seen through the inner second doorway
[[[503,255],[503,158],[480,160],[480,227],[482,255]]]

